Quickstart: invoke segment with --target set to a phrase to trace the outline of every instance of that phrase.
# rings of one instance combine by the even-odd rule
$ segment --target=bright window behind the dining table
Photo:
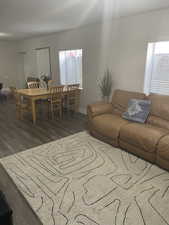
[[[82,49],[59,52],[62,85],[80,84],[82,87]]]

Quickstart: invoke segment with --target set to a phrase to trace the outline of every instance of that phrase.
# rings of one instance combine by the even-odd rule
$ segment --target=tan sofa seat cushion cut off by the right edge
[[[169,163],[169,135],[161,138],[157,149],[157,156],[168,160]]]

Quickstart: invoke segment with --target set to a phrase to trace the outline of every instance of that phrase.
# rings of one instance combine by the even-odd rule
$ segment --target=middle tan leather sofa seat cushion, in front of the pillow
[[[156,151],[157,144],[168,130],[149,124],[131,123],[120,130],[120,140],[139,147],[145,152]]]

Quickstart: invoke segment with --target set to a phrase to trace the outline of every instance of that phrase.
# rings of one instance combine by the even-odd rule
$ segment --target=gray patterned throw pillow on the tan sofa
[[[150,107],[151,101],[149,100],[130,99],[127,112],[124,112],[122,117],[127,120],[145,123]]]

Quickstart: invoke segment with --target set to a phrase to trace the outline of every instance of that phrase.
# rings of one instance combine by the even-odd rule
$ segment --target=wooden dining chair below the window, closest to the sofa
[[[67,86],[66,108],[69,111],[77,112],[80,101],[80,84],[71,84]]]

